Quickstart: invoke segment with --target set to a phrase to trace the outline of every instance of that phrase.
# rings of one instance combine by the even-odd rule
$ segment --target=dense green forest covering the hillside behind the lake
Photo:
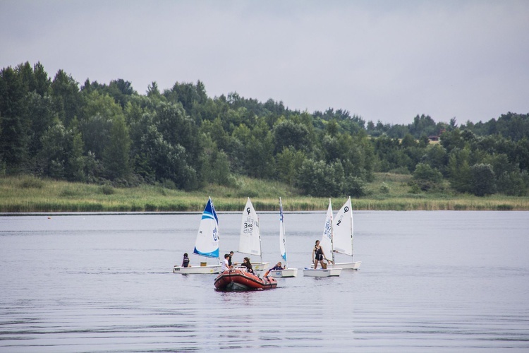
[[[0,72],[0,175],[195,190],[236,175],[279,180],[310,196],[365,196],[375,172],[413,175],[411,193],[525,196],[529,114],[458,126],[408,125],[347,111],[300,112],[236,92],[175,83],[146,95],[118,79],[83,85],[28,62]]]

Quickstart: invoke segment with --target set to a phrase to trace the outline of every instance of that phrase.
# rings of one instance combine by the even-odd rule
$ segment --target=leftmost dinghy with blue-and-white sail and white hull
[[[219,218],[217,217],[211,198],[207,201],[204,212],[202,212],[193,253],[206,258],[217,258],[216,263],[218,265],[207,265],[207,262],[200,263],[200,266],[182,267],[175,265],[173,273],[190,275],[197,273],[219,273],[221,271],[219,258]]]

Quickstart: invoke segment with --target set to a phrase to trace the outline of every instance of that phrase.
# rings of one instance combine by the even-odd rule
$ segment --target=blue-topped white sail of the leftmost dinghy
[[[208,258],[219,258],[219,218],[211,198],[202,213],[193,253]]]

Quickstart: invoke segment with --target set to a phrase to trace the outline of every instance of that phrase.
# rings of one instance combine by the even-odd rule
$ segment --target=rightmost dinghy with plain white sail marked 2
[[[351,256],[351,262],[334,263],[335,267],[358,270],[362,261],[353,261],[353,208],[351,207],[351,196],[334,217],[333,225],[333,249],[336,253]]]

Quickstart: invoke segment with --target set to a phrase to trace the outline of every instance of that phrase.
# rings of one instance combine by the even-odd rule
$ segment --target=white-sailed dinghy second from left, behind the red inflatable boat
[[[259,225],[259,218],[253,208],[252,201],[248,198],[245,208],[243,210],[243,220],[241,222],[241,236],[239,237],[239,253],[248,253],[249,255],[259,256],[260,262],[254,262],[252,265],[254,270],[267,270],[270,263],[262,262],[261,252],[261,229]]]

